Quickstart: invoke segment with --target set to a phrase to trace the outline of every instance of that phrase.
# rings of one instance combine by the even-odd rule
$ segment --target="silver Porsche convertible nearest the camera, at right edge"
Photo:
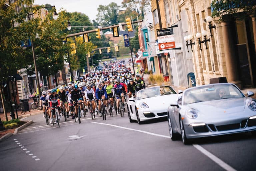
[[[193,138],[256,130],[256,100],[231,83],[209,84],[186,89],[168,107],[172,140],[181,134],[184,144]]]

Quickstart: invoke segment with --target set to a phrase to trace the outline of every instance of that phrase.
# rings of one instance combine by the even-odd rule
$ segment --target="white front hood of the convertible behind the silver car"
[[[137,100],[137,105],[144,102],[148,105],[150,109],[159,109],[159,108],[168,108],[171,103],[175,103],[177,100],[178,94],[170,94],[164,96],[150,97],[146,99]]]

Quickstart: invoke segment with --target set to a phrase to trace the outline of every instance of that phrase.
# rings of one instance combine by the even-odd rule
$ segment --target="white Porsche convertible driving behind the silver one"
[[[135,98],[127,102],[130,122],[138,122],[167,116],[167,109],[175,102],[178,94],[171,86],[156,86],[142,89]]]

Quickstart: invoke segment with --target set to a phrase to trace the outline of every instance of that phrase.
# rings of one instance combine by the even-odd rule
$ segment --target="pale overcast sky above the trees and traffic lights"
[[[121,5],[122,1],[123,0],[35,0],[34,4],[51,4],[55,5],[57,10],[64,8],[67,12],[81,12],[86,14],[92,21],[96,19],[99,5],[105,6],[109,5],[111,2]]]

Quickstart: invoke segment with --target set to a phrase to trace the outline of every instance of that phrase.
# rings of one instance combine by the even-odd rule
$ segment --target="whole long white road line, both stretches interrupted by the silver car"
[[[116,128],[127,129],[127,130],[131,130],[131,131],[137,131],[137,132],[141,132],[141,133],[145,133],[145,134],[149,134],[149,135],[154,135],[154,136],[158,136],[158,137],[170,138],[170,136],[165,136],[165,135],[161,135],[161,134],[155,134],[155,133],[152,133],[152,132],[147,132],[147,131],[142,131],[142,130],[138,130],[138,129],[127,128],[127,127],[122,127],[122,126],[117,126],[117,125],[112,125],[112,124],[105,124],[105,123],[99,123],[99,122],[91,122],[91,123],[96,123],[96,124],[101,124],[101,125],[108,125],[108,126],[113,126],[113,127],[116,127]],[[200,146],[198,144],[193,144],[193,146],[197,150],[199,150],[201,153],[203,153],[204,155],[209,157],[212,161],[214,161],[216,164],[218,164],[223,169],[225,169],[227,171],[237,171],[236,169],[234,169],[233,167],[229,166],[227,163],[225,163],[224,161],[222,161],[221,159],[219,159],[218,157],[216,157],[215,155],[213,155],[212,153],[210,153],[209,151],[204,149],[202,146]]]

